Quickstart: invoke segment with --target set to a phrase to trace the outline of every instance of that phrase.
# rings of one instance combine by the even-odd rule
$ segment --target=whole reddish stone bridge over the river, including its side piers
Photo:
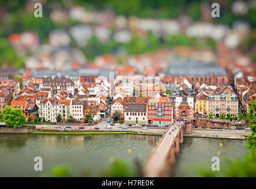
[[[151,152],[142,169],[144,177],[170,177],[176,155],[183,143],[183,133],[192,133],[193,120],[174,122]],[[170,132],[170,133],[169,133]]]

